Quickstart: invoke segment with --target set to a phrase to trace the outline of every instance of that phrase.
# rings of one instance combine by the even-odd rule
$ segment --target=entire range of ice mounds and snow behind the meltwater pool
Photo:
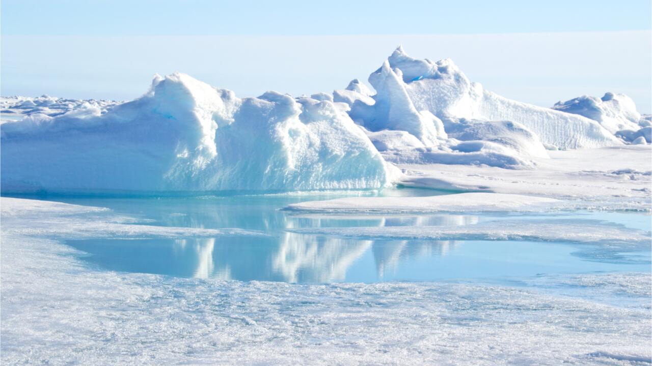
[[[156,76],[147,93],[122,104],[3,98],[2,189],[292,191],[398,183],[618,196],[637,209],[649,201],[651,117],[623,94],[537,107],[486,91],[450,59],[413,59],[400,47],[369,83],[375,93],[356,79],[333,94],[237,98],[177,73]],[[604,161],[614,154],[627,159]],[[556,191],[543,187],[546,178],[580,184]]]

